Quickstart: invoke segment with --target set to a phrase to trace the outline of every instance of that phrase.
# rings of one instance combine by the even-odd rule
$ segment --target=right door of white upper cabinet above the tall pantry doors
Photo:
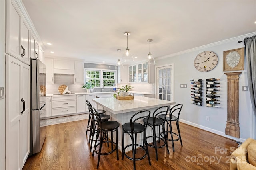
[[[30,57],[29,57],[29,32],[30,29],[28,24],[26,23],[25,19],[22,20],[22,34],[21,34],[21,57],[22,61],[26,64],[30,65]]]

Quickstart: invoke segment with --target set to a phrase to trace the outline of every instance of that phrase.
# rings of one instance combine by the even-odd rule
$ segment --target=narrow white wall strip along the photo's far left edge
[[[0,87],[5,89],[5,0],[0,0]],[[5,94],[5,92],[4,92]],[[5,95],[4,95],[5,96]],[[5,169],[5,97],[0,100],[0,170]]]

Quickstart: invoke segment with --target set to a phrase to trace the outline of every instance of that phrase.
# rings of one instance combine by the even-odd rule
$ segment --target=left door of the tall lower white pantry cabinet
[[[22,62],[6,56],[6,169],[20,169]]]

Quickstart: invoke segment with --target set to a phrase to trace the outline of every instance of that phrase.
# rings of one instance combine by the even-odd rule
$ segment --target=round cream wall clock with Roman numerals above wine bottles
[[[198,54],[194,60],[196,70],[207,72],[212,70],[218,63],[218,56],[212,51],[204,51]]]

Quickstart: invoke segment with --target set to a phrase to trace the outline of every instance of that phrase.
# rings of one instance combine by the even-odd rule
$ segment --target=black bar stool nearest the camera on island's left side
[[[94,150],[92,152],[92,156],[94,156],[94,152],[96,154],[98,154],[98,162],[97,162],[97,169],[98,169],[99,163],[100,163],[100,155],[108,155],[108,154],[111,154],[114,151],[116,151],[116,157],[117,157],[117,160],[119,160],[119,157],[118,157],[118,127],[120,124],[117,121],[102,121],[100,114],[96,111],[96,109],[94,107],[92,107],[92,109],[93,109],[93,115],[96,117],[96,119],[98,121],[96,139],[98,139],[100,136],[100,143],[97,144],[97,140],[95,141]],[[108,132],[111,132],[111,141],[109,141],[108,138],[106,141],[103,141],[104,133],[108,133]],[[116,132],[116,142],[113,141],[113,132]],[[102,153],[101,151],[102,151],[103,143],[109,143],[109,142],[112,144],[111,151]],[[113,144],[115,145],[114,149],[113,149]],[[96,148],[98,146],[99,146],[99,150],[97,151]]]

